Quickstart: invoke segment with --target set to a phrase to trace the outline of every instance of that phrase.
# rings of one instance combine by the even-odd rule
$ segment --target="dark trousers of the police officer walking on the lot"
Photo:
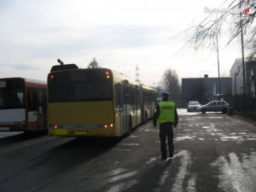
[[[172,155],[174,151],[172,126],[173,126],[172,123],[160,124],[159,137],[160,137],[160,143],[161,143],[161,152],[164,156],[166,156],[166,137],[168,139],[169,155]]]

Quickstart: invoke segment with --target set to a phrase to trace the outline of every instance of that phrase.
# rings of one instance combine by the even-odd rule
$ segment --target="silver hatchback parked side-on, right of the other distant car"
[[[212,101],[208,102],[206,105],[202,105],[197,108],[197,110],[201,113],[207,112],[222,112],[228,113],[228,109],[230,108],[230,104],[225,101]]]

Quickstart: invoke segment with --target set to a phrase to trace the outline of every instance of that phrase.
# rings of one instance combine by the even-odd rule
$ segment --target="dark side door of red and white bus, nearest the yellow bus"
[[[37,111],[38,111],[38,128],[45,128],[46,127],[46,101],[45,101],[45,95],[46,91],[43,89],[38,89],[38,105],[37,105]]]

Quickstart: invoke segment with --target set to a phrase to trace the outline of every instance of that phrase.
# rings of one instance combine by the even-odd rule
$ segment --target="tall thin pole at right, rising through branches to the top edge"
[[[244,47],[243,47],[243,30],[242,30],[242,13],[241,13],[241,0],[240,8],[240,30],[241,30],[241,64],[242,64],[242,80],[243,80],[243,108],[247,112],[247,99],[246,99],[246,82],[245,82],[245,62],[244,62]]]

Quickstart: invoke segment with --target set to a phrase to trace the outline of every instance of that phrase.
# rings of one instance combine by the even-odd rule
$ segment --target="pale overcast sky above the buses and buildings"
[[[179,78],[218,77],[215,49],[182,49],[183,30],[224,0],[0,0],[0,78],[46,80],[57,59],[101,67],[158,84],[168,68]],[[224,36],[223,36],[224,37]],[[220,39],[220,74],[229,75],[241,45]]]

